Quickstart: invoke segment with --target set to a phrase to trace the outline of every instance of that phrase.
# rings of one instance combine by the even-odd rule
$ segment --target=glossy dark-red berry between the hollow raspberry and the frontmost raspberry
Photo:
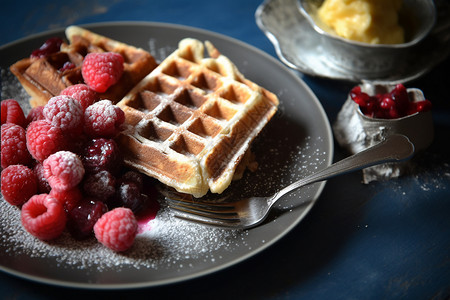
[[[93,234],[95,223],[108,211],[102,201],[83,199],[68,212],[67,229],[76,239],[85,239]]]

